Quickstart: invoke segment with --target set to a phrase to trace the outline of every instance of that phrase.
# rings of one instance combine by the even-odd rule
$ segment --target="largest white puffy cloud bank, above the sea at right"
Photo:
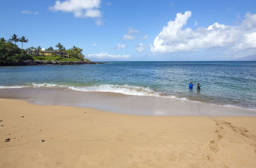
[[[152,52],[167,53],[196,51],[198,49],[227,48],[256,49],[256,14],[247,13],[240,25],[224,25],[218,22],[208,27],[182,29],[191,12],[177,13],[174,21],[168,21],[155,38]]]

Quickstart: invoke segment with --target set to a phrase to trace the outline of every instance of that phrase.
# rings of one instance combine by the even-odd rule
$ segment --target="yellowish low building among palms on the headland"
[[[25,51],[28,54],[32,54],[35,56],[49,56],[51,54],[54,54],[54,55],[57,55],[60,57],[69,58],[69,55],[65,51],[61,51],[61,50],[51,50],[51,51],[42,50],[42,51],[38,52],[38,50],[35,50],[35,49],[25,49]]]

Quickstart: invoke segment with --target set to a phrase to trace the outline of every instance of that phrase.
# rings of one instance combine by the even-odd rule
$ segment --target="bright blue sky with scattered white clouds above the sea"
[[[92,61],[225,61],[256,54],[256,1],[0,0],[0,37],[77,46]],[[21,47],[21,44],[17,44]]]

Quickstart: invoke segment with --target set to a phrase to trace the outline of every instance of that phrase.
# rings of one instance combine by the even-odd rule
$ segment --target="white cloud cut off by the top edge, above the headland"
[[[66,0],[56,1],[55,5],[50,7],[52,11],[73,12],[75,17],[101,17],[100,0]]]

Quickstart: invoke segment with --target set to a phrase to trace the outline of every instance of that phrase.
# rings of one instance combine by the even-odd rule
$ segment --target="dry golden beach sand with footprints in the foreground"
[[[11,99],[0,106],[0,167],[256,167],[256,117],[133,116]]]

